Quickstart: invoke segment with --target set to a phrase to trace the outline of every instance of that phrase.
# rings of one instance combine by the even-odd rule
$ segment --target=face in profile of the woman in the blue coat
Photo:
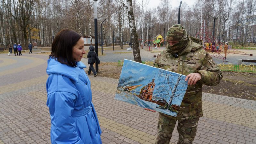
[[[75,46],[73,46],[73,58],[76,62],[81,61],[83,55],[85,54],[84,50],[84,39],[81,37],[79,41],[76,43]]]

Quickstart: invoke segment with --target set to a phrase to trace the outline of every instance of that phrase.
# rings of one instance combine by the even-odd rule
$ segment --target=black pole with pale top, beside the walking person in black
[[[97,0],[94,0],[94,35],[95,35],[95,52],[98,55],[98,18],[97,18]],[[99,72],[99,66],[98,63],[95,63],[96,72]]]

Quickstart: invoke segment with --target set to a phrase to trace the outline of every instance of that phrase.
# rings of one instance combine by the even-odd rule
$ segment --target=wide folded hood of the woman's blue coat
[[[71,67],[66,64],[60,63],[58,60],[55,60],[54,58],[50,58],[48,59],[46,73],[48,75],[60,74],[78,82],[78,77],[80,75],[81,68],[86,68],[84,63],[82,63],[81,61],[76,63],[76,67]]]

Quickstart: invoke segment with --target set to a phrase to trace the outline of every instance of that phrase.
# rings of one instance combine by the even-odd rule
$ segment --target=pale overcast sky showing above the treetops
[[[141,0],[137,0],[141,4]],[[143,3],[145,3],[146,0],[143,0]],[[147,0],[148,1],[148,8],[157,8],[157,6],[161,3],[161,0]],[[188,6],[194,5],[196,3],[196,0],[183,0],[182,4],[187,3]],[[172,8],[179,7],[180,6],[180,0],[170,0],[170,6]],[[181,5],[182,6],[182,5]]]

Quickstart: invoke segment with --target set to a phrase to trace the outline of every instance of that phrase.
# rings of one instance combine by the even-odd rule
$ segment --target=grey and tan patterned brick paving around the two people
[[[143,51],[145,59],[157,55]],[[48,56],[6,55],[0,54],[0,144],[50,143],[45,89]],[[86,64],[87,59],[82,61]],[[117,79],[89,78],[104,144],[155,142],[158,113],[115,100]],[[256,143],[256,101],[203,93],[203,112],[195,144]],[[171,143],[177,140],[175,128]]]

